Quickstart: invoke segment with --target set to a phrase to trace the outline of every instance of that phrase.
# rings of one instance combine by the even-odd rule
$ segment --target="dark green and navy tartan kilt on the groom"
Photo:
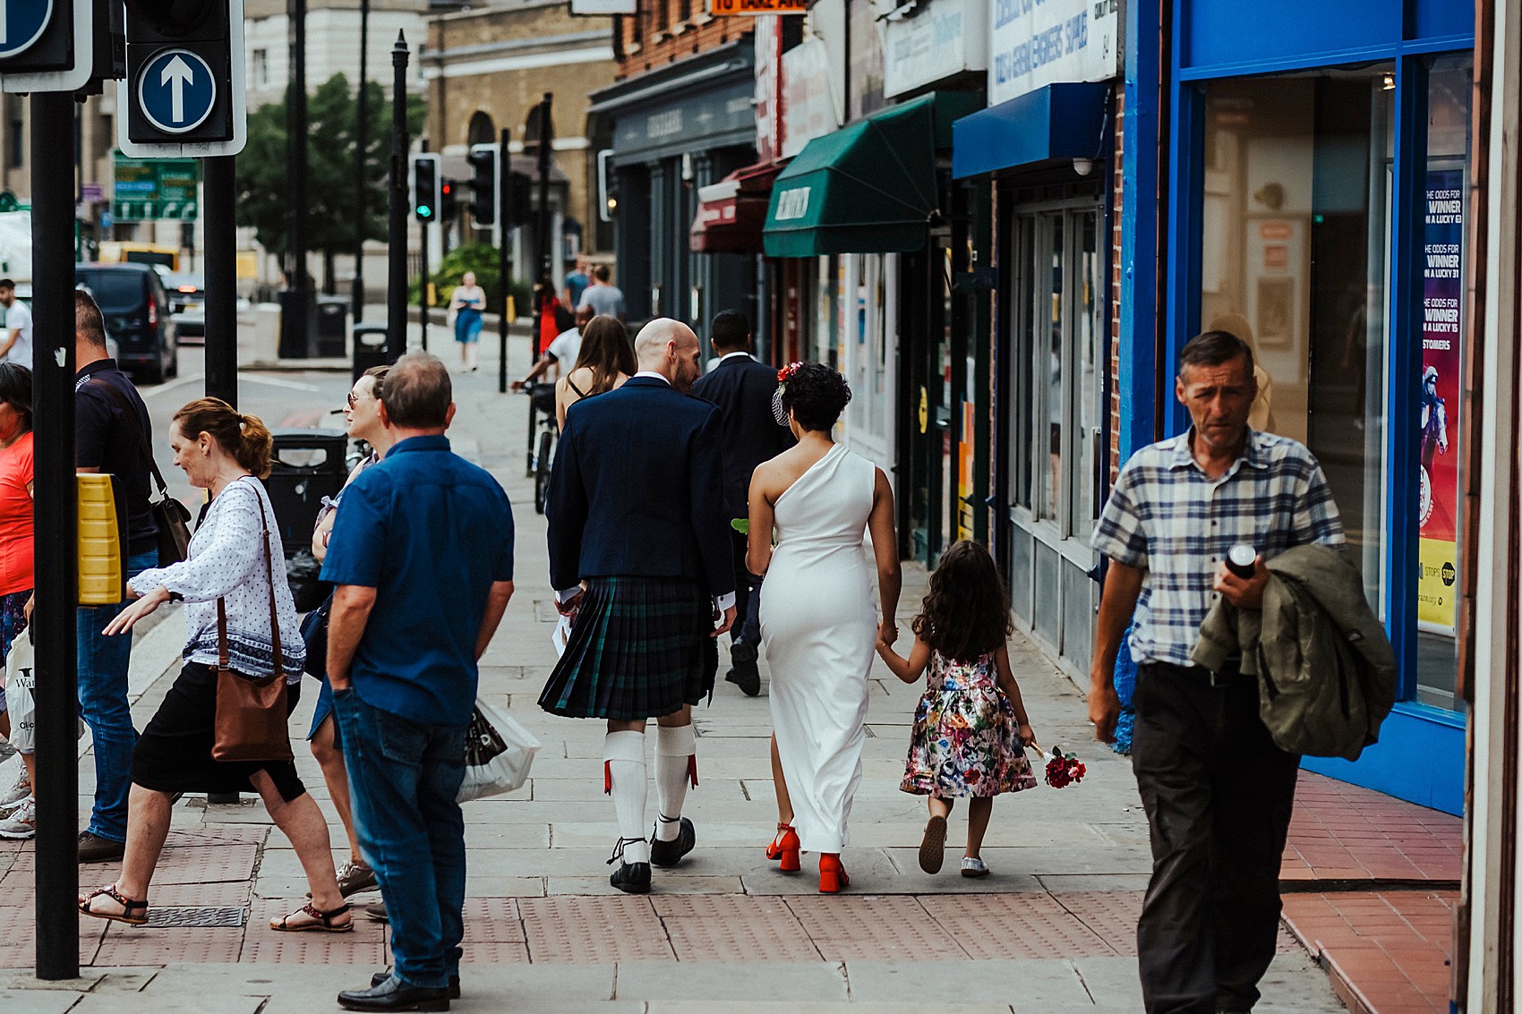
[[[572,719],[632,722],[714,691],[714,603],[686,579],[594,577],[539,706]]]

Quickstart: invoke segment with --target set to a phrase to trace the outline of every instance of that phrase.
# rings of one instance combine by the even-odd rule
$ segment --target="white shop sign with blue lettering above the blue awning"
[[[991,0],[988,104],[1064,81],[1108,81],[1120,0]]]

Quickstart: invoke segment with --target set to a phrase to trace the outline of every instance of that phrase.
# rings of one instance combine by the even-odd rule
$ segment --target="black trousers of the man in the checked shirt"
[[[1142,665],[1131,766],[1152,839],[1137,924],[1148,1014],[1250,1011],[1278,941],[1278,866],[1300,757],[1274,746],[1257,681]]]

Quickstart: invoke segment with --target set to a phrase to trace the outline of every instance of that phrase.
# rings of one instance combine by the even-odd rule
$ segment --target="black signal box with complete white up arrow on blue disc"
[[[126,0],[122,152],[236,155],[248,119],[244,62],[242,0]]]

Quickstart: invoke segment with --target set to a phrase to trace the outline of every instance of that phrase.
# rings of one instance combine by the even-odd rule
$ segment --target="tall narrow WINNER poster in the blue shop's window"
[[[1458,405],[1464,174],[1428,171],[1422,288],[1420,565],[1417,621],[1454,633],[1458,595]]]

